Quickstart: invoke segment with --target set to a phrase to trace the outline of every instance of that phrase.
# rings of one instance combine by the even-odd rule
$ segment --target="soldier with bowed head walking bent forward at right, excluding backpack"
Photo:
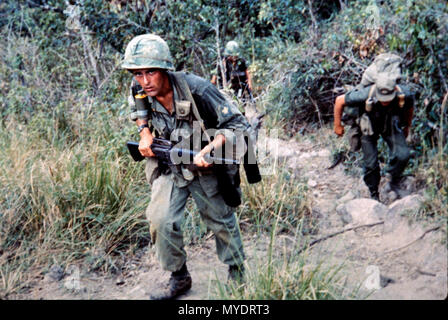
[[[401,175],[408,163],[410,149],[406,143],[414,111],[414,95],[408,87],[397,83],[396,73],[380,72],[374,83],[358,86],[336,98],[334,105],[334,132],[344,134],[341,116],[344,107],[358,115],[361,130],[361,148],[364,154],[364,182],[372,199],[379,201],[380,167],[377,142],[381,135],[390,150],[387,172],[390,189],[400,196]],[[355,112],[353,112],[355,110]]]

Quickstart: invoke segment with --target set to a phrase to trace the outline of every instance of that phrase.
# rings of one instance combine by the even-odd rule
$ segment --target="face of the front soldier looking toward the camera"
[[[142,86],[150,97],[163,95],[166,86],[169,86],[168,77],[160,69],[138,69],[132,71],[135,80]]]

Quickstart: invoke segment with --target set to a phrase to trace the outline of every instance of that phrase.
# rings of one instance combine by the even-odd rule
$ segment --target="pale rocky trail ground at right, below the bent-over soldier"
[[[323,129],[321,134],[329,136],[331,130]],[[285,150],[289,146],[286,143]],[[380,203],[369,198],[360,167],[347,170],[339,164],[328,170],[330,150],[314,147],[307,139],[298,144],[296,153],[297,157],[288,157],[287,165],[313,190],[319,226],[315,238],[375,224],[319,242],[311,250],[314,259],[344,263],[348,286],[361,284],[360,296],[368,299],[447,296],[446,224],[415,219],[424,201],[415,178],[403,179],[401,199],[383,178]]]

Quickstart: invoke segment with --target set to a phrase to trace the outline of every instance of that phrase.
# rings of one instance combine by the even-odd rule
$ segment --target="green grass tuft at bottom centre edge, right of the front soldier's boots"
[[[341,270],[343,265],[324,261],[310,264],[308,252],[302,251],[300,236],[303,226],[293,230],[295,243],[276,244],[281,220],[276,216],[266,254],[254,254],[246,268],[245,281],[216,283],[216,297],[225,300],[332,300],[357,296],[356,289],[347,292]]]

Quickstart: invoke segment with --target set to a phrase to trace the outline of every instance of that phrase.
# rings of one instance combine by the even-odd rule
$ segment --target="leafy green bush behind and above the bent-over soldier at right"
[[[444,77],[448,42],[443,36],[447,22],[443,1],[350,3],[320,25],[317,40],[309,36],[301,43],[279,41],[270,47],[268,65],[273,67],[258,76],[273,78],[265,91],[267,109],[279,109],[300,124],[330,120],[344,86],[358,84],[377,54],[393,51],[405,60],[404,81],[419,94],[414,122],[416,137],[422,138],[418,144],[431,148],[434,135],[428,133],[434,131],[428,122],[446,117],[437,110],[448,89]]]

